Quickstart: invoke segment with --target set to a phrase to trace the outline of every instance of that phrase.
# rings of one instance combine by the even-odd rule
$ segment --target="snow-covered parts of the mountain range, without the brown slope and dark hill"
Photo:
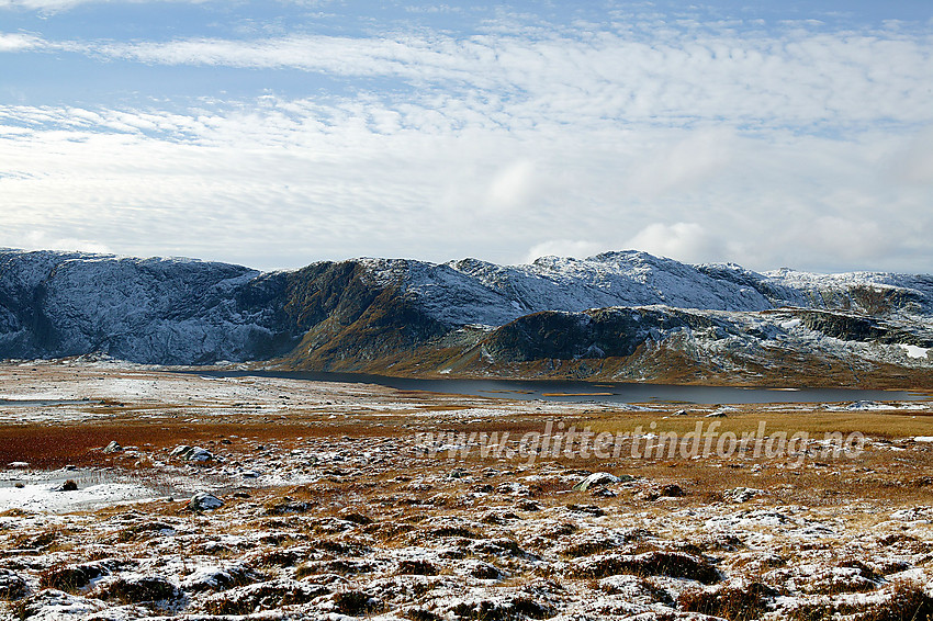
[[[930,364],[933,347],[930,275],[789,269],[758,273],[733,263],[692,266],[637,251],[587,259],[542,257],[524,266],[378,258],[344,266],[355,268],[345,271],[358,274],[370,294],[398,296],[405,307],[447,326],[450,335],[468,326],[490,330],[548,310],[581,314],[584,321],[588,317],[583,312],[593,308],[656,307],[659,313],[685,309],[715,319],[702,328],[645,326],[649,341],[676,339],[697,355],[803,348],[922,366]],[[294,307],[308,297],[290,297],[288,284],[303,273],[261,273],[191,259],[0,250],[0,357],[97,351],[167,364],[269,359],[294,347],[307,329],[297,327],[294,317],[301,313]],[[348,287],[349,281],[321,284],[313,280],[315,270],[307,273],[308,280],[299,283],[304,296],[357,291]],[[322,286],[329,289],[322,293]],[[801,318],[783,307],[847,315]],[[839,328],[846,339],[846,321],[868,336],[840,340],[820,331],[832,320],[842,323],[830,328]],[[876,334],[887,336],[878,339]],[[598,347],[584,350],[600,357]],[[485,350],[482,355],[493,358]]]

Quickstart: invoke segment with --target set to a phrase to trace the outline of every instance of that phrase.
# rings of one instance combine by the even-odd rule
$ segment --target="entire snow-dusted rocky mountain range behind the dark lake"
[[[260,273],[0,251],[0,357],[389,374],[933,384],[933,276],[757,273],[642,252],[357,259]]]

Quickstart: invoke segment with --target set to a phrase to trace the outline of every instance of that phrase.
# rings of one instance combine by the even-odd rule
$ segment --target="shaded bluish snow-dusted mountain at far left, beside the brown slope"
[[[268,357],[283,331],[278,280],[190,259],[0,252],[0,355],[103,352],[167,364]]]

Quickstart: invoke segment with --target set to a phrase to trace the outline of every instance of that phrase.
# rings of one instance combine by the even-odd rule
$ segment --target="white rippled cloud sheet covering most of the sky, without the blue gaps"
[[[929,38],[737,32],[0,35],[7,52],[299,68],[347,87],[173,112],[0,106],[0,245],[259,268],[636,247],[754,269],[929,271]]]

